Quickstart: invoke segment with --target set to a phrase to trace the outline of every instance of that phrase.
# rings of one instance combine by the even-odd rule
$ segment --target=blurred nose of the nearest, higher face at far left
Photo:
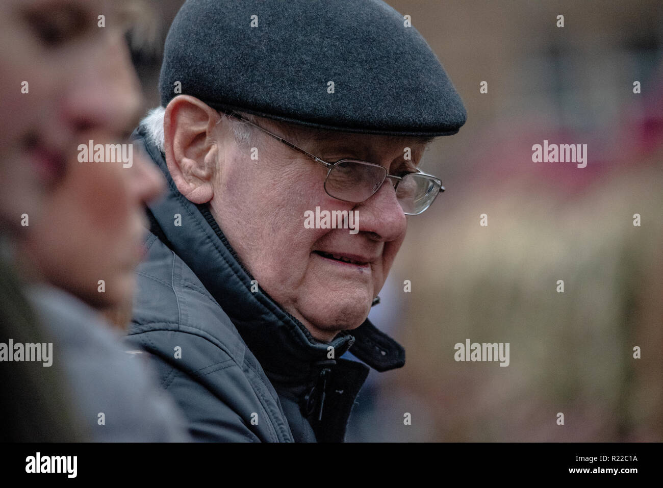
[[[64,91],[61,122],[74,134],[123,135],[141,108],[140,84],[123,36],[109,30],[79,62]]]

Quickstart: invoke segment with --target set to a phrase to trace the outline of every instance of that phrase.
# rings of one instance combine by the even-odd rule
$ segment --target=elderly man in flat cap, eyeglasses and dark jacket
[[[417,166],[465,122],[459,95],[376,0],[190,0],[160,93],[135,137],[169,192],[129,340],[198,440],[342,441],[367,365],[404,365],[367,316],[442,190]]]

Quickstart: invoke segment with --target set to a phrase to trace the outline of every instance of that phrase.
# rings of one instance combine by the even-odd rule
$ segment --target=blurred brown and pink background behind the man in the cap
[[[149,1],[131,36],[146,111],[182,3]],[[424,156],[447,191],[409,217],[371,312],[406,365],[371,371],[347,440],[663,441],[663,3],[387,3],[468,117]],[[544,139],[587,144],[587,167],[532,162]],[[509,366],[454,361],[465,339],[510,343]]]

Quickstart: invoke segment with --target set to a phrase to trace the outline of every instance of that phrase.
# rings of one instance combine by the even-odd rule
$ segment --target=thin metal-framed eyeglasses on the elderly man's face
[[[328,168],[327,176],[324,182],[325,192],[331,198],[343,200],[343,202],[361,203],[368,200],[380,189],[382,184],[389,178],[396,190],[396,199],[400,204],[405,215],[419,215],[436,199],[440,192],[444,192],[442,181],[438,180],[432,174],[426,174],[417,170],[395,176],[388,174],[385,166],[374,162],[360,161],[355,159],[341,159],[336,162],[327,162],[314,156],[308,151],[289,143],[282,137],[263,129],[259,125],[245,119],[235,111],[222,111],[230,117],[239,119],[245,123],[257,127],[261,131],[271,135],[274,139],[291,147],[295,151],[304,154],[315,162]]]

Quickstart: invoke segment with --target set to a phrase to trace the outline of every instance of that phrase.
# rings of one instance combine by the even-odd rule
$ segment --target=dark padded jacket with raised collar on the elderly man
[[[354,344],[355,356],[385,371],[400,365],[400,346],[367,320],[339,335],[336,359],[327,359],[328,344],[313,345],[296,319],[250,291],[251,276],[210,210],[178,192],[144,129],[135,137],[166,175],[168,195],[149,204],[149,255],[128,340],[152,353],[194,439],[343,441],[369,368],[340,356]],[[176,214],[198,230],[178,231]]]

